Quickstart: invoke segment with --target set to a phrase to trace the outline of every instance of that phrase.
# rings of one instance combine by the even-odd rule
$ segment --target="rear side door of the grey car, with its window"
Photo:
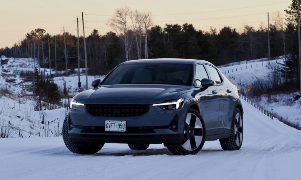
[[[215,82],[214,87],[216,87],[218,94],[219,94],[219,117],[218,123],[216,124],[219,128],[219,134],[228,133],[228,115],[229,115],[229,108],[230,108],[230,98],[229,95],[232,91],[231,87],[228,87],[225,84],[220,72],[213,67],[212,65],[206,64],[206,70],[209,73],[210,79]],[[231,111],[233,112],[233,110]]]

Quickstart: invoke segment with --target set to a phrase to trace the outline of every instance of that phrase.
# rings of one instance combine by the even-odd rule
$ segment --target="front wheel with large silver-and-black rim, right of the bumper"
[[[184,140],[181,146],[167,146],[174,155],[195,155],[203,148],[206,138],[206,127],[197,110],[189,109],[184,123]]]

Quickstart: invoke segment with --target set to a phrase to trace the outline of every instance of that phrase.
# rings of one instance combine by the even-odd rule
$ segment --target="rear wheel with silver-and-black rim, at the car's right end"
[[[244,136],[243,116],[241,115],[240,110],[235,108],[232,117],[230,137],[220,139],[219,143],[221,144],[222,149],[225,151],[239,150],[243,143],[243,136]]]

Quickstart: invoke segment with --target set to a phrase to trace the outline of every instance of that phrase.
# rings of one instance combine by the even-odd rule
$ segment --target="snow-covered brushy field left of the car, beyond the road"
[[[39,63],[34,59],[28,61],[28,58],[9,58],[8,63],[0,67],[0,89],[7,88],[11,91],[10,95],[0,92],[0,126],[11,127],[9,137],[53,137],[61,133],[65,108],[34,111],[33,97],[22,95],[20,75],[13,74],[14,70],[33,73],[35,65],[39,68]],[[45,73],[50,74],[50,69],[45,69]],[[104,76],[88,76],[88,88],[92,88],[91,81],[98,78],[102,80]],[[6,79],[15,81],[6,82]],[[64,89],[64,79],[62,76],[53,78],[61,91]],[[85,89],[85,74],[81,74],[80,80]],[[82,91],[78,88],[78,76],[72,74],[66,77],[66,87],[70,98]]]

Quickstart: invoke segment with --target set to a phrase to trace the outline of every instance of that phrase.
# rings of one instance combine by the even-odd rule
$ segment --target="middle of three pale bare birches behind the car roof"
[[[138,59],[141,59],[142,16],[141,13],[138,12],[138,10],[131,12],[131,21],[132,21],[133,31],[135,33],[135,38],[136,38]],[[139,42],[138,42],[138,37],[139,37]]]

